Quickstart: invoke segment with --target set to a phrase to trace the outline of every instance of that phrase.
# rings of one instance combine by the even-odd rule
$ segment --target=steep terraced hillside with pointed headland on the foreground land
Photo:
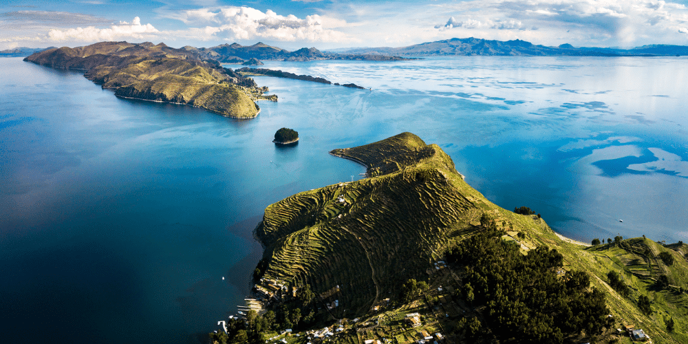
[[[331,152],[374,171],[373,178],[305,191],[266,208],[257,236],[264,278],[310,284],[334,316],[353,318],[427,276],[453,237],[477,230],[484,213],[510,228],[544,222],[485,199],[455,171],[449,155],[412,133]],[[339,286],[339,292],[327,293]]]

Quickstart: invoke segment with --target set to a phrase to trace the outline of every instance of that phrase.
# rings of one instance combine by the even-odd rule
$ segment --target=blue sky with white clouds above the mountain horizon
[[[288,50],[476,37],[576,47],[688,45],[688,0],[3,0],[0,50],[98,41]]]

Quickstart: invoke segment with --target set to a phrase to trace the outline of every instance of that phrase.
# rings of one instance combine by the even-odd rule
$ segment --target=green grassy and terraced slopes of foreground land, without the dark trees
[[[678,289],[688,289],[687,246],[663,246],[644,238],[597,247],[570,244],[559,239],[543,220],[517,215],[486,200],[460,178],[439,147],[426,145],[411,133],[331,153],[357,160],[369,173],[377,171],[380,176],[306,191],[272,204],[257,235],[267,244],[270,262],[266,277],[295,285],[310,283],[316,292],[336,284],[342,287],[334,295],[323,294],[323,301],[339,299],[343,307],[332,313],[348,319],[359,316],[361,321],[350,322],[347,330],[338,334],[338,342],[396,338],[399,343],[412,343],[420,330],[446,335],[458,319],[479,315],[451,291],[462,287],[457,277],[460,272],[435,272],[432,262],[441,259],[444,248],[454,241],[478,230],[480,216],[488,213],[507,230],[504,239],[519,241],[524,254],[546,245],[561,252],[566,270],[588,272],[592,286],[607,292],[616,327],[635,325],[654,343],[688,343],[688,300]],[[344,197],[346,204],[337,202],[338,197]],[[517,239],[519,232],[525,239]],[[673,266],[656,258],[662,251],[674,255]],[[427,294],[395,309],[370,310],[371,305],[384,304],[384,298],[394,299],[403,281],[413,277],[428,280],[424,275],[427,269],[433,272]],[[630,284],[630,298],[608,286],[610,270],[620,272]],[[658,274],[668,275],[676,287],[656,290],[653,283]],[[437,291],[438,286],[444,287],[442,292]],[[636,306],[640,294],[653,302],[650,316]],[[407,312],[420,312],[424,324],[415,329],[402,325]],[[449,316],[445,317],[445,312]],[[674,333],[668,333],[665,326],[670,316],[676,321]],[[614,332],[612,329],[592,341],[630,343],[630,338]]]

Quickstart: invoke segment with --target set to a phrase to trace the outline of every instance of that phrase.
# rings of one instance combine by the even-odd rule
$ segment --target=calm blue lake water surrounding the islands
[[[264,208],[358,178],[363,166],[327,151],[402,131],[439,144],[489,200],[529,206],[568,237],[688,239],[686,58],[266,67],[371,89],[257,77],[279,102],[233,120],[0,59],[10,343],[204,340],[248,292]],[[299,131],[297,146],[272,144],[281,127]]]

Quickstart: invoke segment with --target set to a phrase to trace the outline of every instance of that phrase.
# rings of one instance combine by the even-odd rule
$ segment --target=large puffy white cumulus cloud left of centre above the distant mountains
[[[338,42],[350,36],[325,28],[325,23],[341,24],[332,18],[313,14],[299,19],[293,14],[283,16],[272,10],[262,12],[249,7],[220,7],[184,10],[164,14],[191,26],[189,30],[175,32],[189,38],[208,41],[270,39],[279,41]],[[197,34],[204,34],[199,35]]]

